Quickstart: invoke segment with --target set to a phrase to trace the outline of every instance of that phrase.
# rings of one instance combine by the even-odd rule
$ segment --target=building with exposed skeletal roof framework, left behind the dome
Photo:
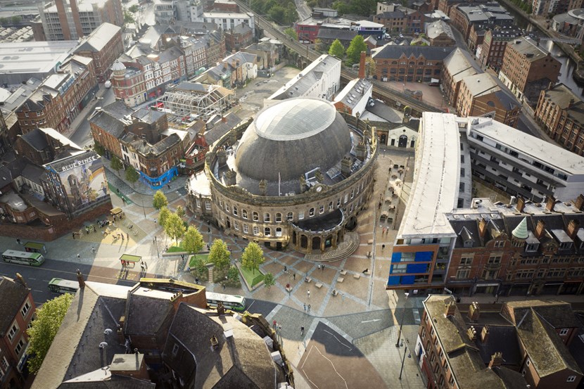
[[[235,92],[217,85],[181,82],[158,98],[156,107],[165,112],[169,122],[207,121],[213,115],[236,104]]]

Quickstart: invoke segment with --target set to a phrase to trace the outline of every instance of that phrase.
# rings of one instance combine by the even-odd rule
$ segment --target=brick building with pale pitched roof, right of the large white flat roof
[[[77,55],[93,59],[98,82],[106,82],[111,65],[123,52],[122,28],[111,23],[97,27],[75,49]]]

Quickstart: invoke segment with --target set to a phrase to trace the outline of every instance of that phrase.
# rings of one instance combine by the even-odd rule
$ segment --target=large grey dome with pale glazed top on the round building
[[[235,163],[251,179],[290,181],[317,167],[325,174],[350,149],[350,129],[329,101],[289,98],[258,113]]]

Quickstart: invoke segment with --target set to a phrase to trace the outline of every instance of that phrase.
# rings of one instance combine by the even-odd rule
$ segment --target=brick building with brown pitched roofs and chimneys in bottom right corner
[[[415,355],[428,388],[577,388],[582,371],[568,346],[578,321],[566,302],[504,302],[463,317],[453,296],[424,300]],[[412,353],[413,354],[413,353]]]

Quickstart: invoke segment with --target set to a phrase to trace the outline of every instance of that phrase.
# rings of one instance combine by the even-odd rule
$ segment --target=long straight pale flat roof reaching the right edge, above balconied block
[[[511,148],[517,151],[520,156],[523,154],[528,158],[538,160],[543,165],[573,175],[584,175],[584,157],[535,136],[518,132],[513,127],[495,120],[486,117],[471,117],[469,118],[467,135],[470,132],[491,139],[501,146]],[[471,139],[470,136],[469,139]]]

